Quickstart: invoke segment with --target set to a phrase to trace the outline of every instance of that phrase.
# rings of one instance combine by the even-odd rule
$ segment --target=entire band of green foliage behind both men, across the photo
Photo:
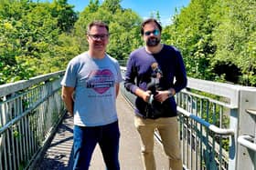
[[[87,50],[92,20],[110,25],[108,53],[119,60],[143,45],[142,18],[121,0],[73,8],[67,0],[0,0],[0,85],[65,69]],[[191,0],[165,26],[163,42],[180,49],[190,77],[255,86],[255,16],[255,0]]]

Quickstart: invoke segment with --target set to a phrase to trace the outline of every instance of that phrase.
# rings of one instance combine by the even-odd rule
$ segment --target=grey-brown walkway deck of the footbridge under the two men
[[[120,165],[123,170],[143,169],[140,153],[139,135],[133,125],[133,108],[126,102],[123,95],[117,98],[117,112],[121,131],[120,141]],[[62,125],[59,126],[44,159],[38,165],[39,170],[47,169],[71,169],[72,159],[72,117],[66,116]],[[167,159],[163,153],[162,146],[155,140],[155,161],[157,169],[167,170]],[[97,146],[91,159],[91,170],[104,170],[101,151]]]

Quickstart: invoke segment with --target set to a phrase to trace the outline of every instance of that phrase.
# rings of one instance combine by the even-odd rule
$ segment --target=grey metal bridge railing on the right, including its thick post
[[[124,76],[126,68],[121,68]],[[133,105],[135,96],[123,86],[122,93]],[[248,150],[256,150],[256,88],[188,78],[187,88],[176,94],[176,102],[185,169],[256,166],[256,152]],[[161,142],[157,132],[155,136]]]

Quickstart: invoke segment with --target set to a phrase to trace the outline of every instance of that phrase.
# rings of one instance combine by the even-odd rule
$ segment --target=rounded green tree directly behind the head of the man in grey
[[[142,45],[139,35],[141,18],[131,9],[123,9],[119,0],[91,1],[75,24],[75,35],[79,38],[81,51],[87,50],[86,26],[92,20],[102,20],[110,26],[108,53],[119,60],[127,59],[131,51]],[[81,52],[80,51],[80,52]]]

